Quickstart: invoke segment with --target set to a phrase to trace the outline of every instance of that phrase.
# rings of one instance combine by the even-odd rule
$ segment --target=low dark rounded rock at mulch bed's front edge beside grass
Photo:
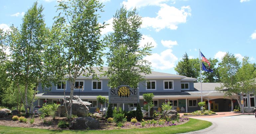
[[[69,129],[99,129],[99,121],[92,117],[74,118],[69,125]]]

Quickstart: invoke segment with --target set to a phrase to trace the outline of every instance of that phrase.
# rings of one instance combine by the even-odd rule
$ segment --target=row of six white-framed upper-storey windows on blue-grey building
[[[74,88],[75,89],[83,89],[83,81],[75,81]],[[102,90],[102,81],[92,81],[92,90]],[[57,84],[57,89],[65,89],[65,84],[60,82]],[[156,90],[156,81],[150,80],[147,81],[147,90]],[[181,83],[182,90],[189,89],[189,83]],[[164,80],[164,90],[174,90],[173,81]]]

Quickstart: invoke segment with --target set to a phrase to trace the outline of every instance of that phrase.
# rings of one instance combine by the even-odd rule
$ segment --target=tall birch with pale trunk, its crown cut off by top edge
[[[49,45],[54,51],[58,51],[48,50],[51,52],[49,56],[56,59],[53,63],[48,62],[48,68],[52,69],[46,74],[52,73],[62,78],[59,80],[67,77],[71,89],[67,117],[72,114],[76,78],[82,75],[97,78],[92,67],[103,64],[101,57],[104,46],[100,40],[100,30],[104,25],[98,22],[99,12],[103,12],[102,7],[102,3],[95,0],[64,0],[58,5],[59,16],[56,17],[51,32],[53,42]],[[58,32],[58,36],[54,35]],[[55,71],[55,68],[63,71]]]

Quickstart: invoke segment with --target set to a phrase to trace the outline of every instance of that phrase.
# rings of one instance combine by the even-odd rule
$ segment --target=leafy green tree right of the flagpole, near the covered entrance
[[[215,90],[224,92],[225,96],[233,95],[237,99],[239,107],[242,108],[240,93],[251,93],[255,86],[255,64],[249,63],[248,57],[244,57],[242,66],[240,65],[237,57],[226,53],[222,62],[219,63],[221,87],[216,87]]]

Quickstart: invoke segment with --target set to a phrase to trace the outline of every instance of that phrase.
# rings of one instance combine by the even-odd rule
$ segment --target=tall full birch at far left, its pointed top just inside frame
[[[32,101],[28,101],[29,87],[37,87],[42,77],[42,52],[47,40],[47,28],[42,12],[43,6],[38,7],[38,3],[35,2],[24,15],[21,30],[12,26],[9,36],[12,55],[8,72],[20,96],[22,96],[21,86],[25,86],[25,98],[22,102],[26,113],[32,111],[33,100],[37,92],[35,88]]]

